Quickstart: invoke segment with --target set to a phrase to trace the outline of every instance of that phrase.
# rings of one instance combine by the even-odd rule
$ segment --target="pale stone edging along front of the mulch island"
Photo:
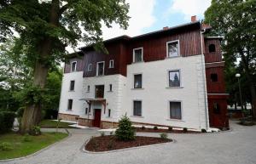
[[[125,149],[119,149],[119,150],[108,150],[108,151],[99,151],[99,152],[95,152],[95,151],[89,151],[89,150],[85,150],[85,145],[90,141],[90,139],[87,139],[85,141],[85,143],[82,145],[82,147],[80,148],[80,150],[84,153],[87,154],[106,154],[106,153],[113,153],[113,152],[119,152],[119,151],[124,151],[124,150],[136,150],[136,149],[141,149],[141,148],[147,148],[147,147],[153,147],[153,146],[159,146],[159,145],[164,145],[164,144],[172,144],[172,143],[177,143],[177,140],[172,139],[171,142],[167,142],[167,143],[160,143],[160,144],[148,144],[148,145],[143,145],[143,146],[136,146],[136,147],[131,147],[131,148],[125,148]]]

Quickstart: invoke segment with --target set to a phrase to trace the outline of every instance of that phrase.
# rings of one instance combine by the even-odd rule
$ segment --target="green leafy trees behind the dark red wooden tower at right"
[[[205,12],[205,23],[212,26],[212,31],[208,35],[224,37],[222,49],[230,105],[240,103],[238,82],[235,77],[236,73],[240,73],[242,99],[244,102],[254,101],[256,106],[255,8],[255,0],[212,0],[210,8]],[[256,110],[254,112],[256,114]]]

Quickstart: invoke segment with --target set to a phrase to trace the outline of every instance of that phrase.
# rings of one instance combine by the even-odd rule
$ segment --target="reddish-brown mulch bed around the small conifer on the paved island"
[[[172,142],[172,139],[161,139],[153,137],[136,136],[132,141],[120,141],[115,136],[101,136],[90,139],[85,145],[85,150],[89,151],[108,151],[108,150],[120,150],[125,148],[143,146],[148,144],[160,144]]]

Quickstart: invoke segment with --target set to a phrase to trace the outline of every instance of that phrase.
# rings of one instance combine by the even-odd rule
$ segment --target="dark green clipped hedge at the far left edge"
[[[0,111],[0,133],[8,132],[15,122],[15,112]]]

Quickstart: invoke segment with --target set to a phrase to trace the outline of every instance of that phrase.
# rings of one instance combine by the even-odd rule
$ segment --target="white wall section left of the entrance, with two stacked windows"
[[[69,91],[70,81],[73,80],[75,81],[74,90]],[[72,110],[67,110],[68,99],[73,99]],[[62,77],[59,113],[82,115],[85,103],[79,99],[83,99],[83,71],[65,73]]]

